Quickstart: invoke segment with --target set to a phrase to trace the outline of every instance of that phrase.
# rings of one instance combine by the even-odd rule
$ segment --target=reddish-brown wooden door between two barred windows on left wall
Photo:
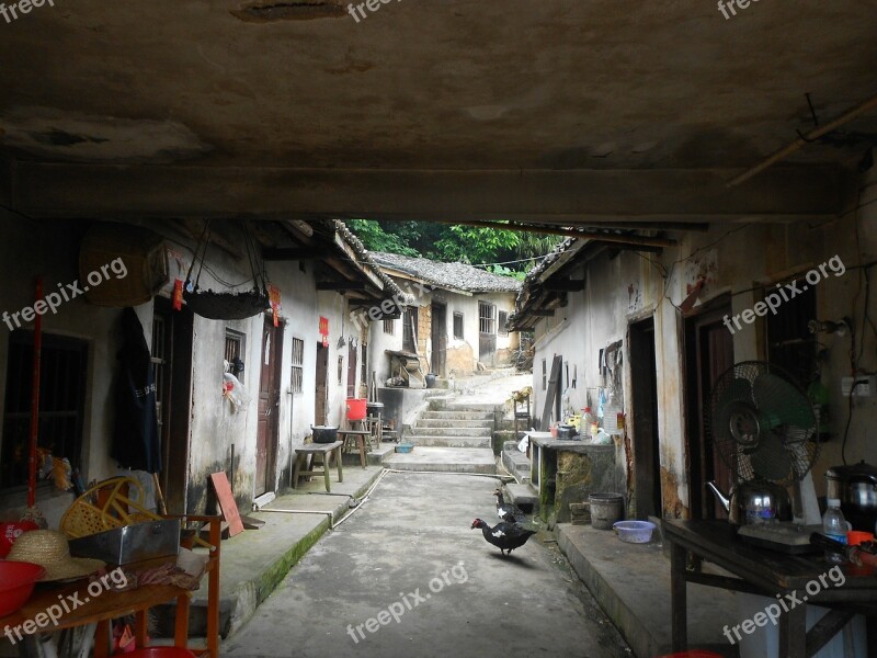
[[[262,359],[259,373],[259,423],[255,434],[254,496],[274,490],[274,465],[277,458],[280,432],[281,363],[283,361],[283,327],[265,316],[262,326]]]

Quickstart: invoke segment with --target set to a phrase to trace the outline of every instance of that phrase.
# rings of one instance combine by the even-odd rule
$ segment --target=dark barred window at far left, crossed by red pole
[[[10,333],[0,487],[27,483],[33,348],[32,332]],[[81,465],[87,368],[86,341],[43,334],[37,446],[67,457],[73,468]]]

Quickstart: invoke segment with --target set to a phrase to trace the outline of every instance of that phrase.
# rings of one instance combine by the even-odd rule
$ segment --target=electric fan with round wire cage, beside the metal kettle
[[[807,395],[783,368],[743,361],[722,373],[713,388],[705,424],[715,452],[738,483],[767,480],[795,489],[806,524],[820,522],[810,469],[819,452],[817,419]],[[740,534],[781,545],[806,546],[795,524],[749,525]],[[773,546],[772,546],[773,547]]]

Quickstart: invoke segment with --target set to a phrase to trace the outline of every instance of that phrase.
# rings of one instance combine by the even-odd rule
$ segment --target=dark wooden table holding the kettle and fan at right
[[[688,582],[770,597],[774,599],[771,603],[777,601],[777,594],[788,601],[789,610],[782,611],[777,624],[778,655],[783,658],[813,656],[856,613],[877,615],[877,576],[873,569],[842,565],[845,582],[836,587],[832,580],[825,579],[827,586],[823,587],[819,578],[822,576],[824,579],[833,565],[825,563],[821,554],[793,556],[755,547],[738,537],[736,529],[727,521],[664,519],[661,527],[664,540],[670,543],[674,651],[687,648]],[[696,567],[701,559],[718,565],[737,578],[699,571]],[[688,567],[690,561],[694,561],[695,568]],[[819,591],[813,591],[813,582],[820,583]],[[811,589],[808,589],[808,585]],[[808,632],[809,603],[830,608],[831,611]],[[729,611],[729,626],[734,625],[731,623],[734,619],[736,611]],[[875,646],[873,635],[869,629],[868,644],[872,650]]]

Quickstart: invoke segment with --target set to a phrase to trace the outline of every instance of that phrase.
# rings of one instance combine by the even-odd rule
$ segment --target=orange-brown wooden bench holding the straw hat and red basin
[[[34,594],[16,612],[0,617],[0,628],[14,628],[19,625],[30,627],[37,626],[35,620],[42,620],[42,627],[36,628],[37,633],[50,633],[64,628],[96,624],[94,634],[94,658],[107,658],[110,654],[110,624],[112,620],[133,614],[135,617],[135,639],[137,648],[148,646],[147,640],[147,612],[150,608],[169,603],[176,600],[176,616],[174,619],[173,644],[176,647],[184,647],[198,656],[219,656],[219,542],[220,542],[220,518],[219,517],[186,517],[190,521],[209,522],[209,543],[216,548],[212,551],[210,558],[206,566],[207,571],[207,638],[206,648],[189,646],[189,612],[192,592],[181,587],[172,585],[145,585],[127,591],[113,591],[102,588],[102,591],[94,595],[89,592],[89,586],[96,591],[98,586],[93,585],[100,580],[81,579],[72,583],[37,585]],[[125,565],[125,571],[138,571],[146,568],[158,566],[167,561],[167,558],[137,565]],[[115,569],[113,565],[106,567],[107,574]],[[107,579],[110,585],[112,578]],[[64,612],[57,616],[57,624],[45,621],[46,612],[58,605],[59,597],[68,602],[69,612]],[[55,609],[57,610],[57,608]],[[42,615],[42,616],[41,616]],[[31,628],[23,628],[22,635]],[[27,633],[27,635],[31,635]],[[13,633],[18,642],[18,635]]]

